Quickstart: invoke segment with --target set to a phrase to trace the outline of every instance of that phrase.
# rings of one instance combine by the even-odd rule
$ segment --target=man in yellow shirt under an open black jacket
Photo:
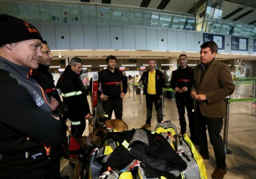
[[[151,127],[153,102],[157,111],[157,122],[163,120],[162,103],[160,96],[165,85],[164,75],[155,68],[155,61],[148,61],[148,71],[144,72],[141,81],[144,85],[143,94],[146,95],[147,118],[142,128]]]

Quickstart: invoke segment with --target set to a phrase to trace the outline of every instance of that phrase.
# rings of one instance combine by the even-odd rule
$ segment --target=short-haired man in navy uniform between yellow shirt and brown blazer
[[[193,69],[186,65],[187,57],[185,54],[179,56],[180,66],[172,73],[171,87],[176,91],[175,99],[179,113],[180,133],[186,133],[185,107],[189,118],[190,139],[197,142],[195,136],[194,99],[190,96],[193,79]]]

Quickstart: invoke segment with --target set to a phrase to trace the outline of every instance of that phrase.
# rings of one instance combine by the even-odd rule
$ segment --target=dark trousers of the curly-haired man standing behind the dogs
[[[116,119],[122,119],[122,99],[107,100],[102,102],[105,120],[111,119],[113,110],[115,112]]]

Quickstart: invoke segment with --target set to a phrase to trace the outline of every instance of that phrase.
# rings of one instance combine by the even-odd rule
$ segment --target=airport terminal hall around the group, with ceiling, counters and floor
[[[236,86],[227,99],[229,110],[221,131],[227,147],[224,179],[256,179],[256,0],[0,0],[0,14],[38,28],[53,55],[49,72],[55,84],[71,58],[82,59],[83,80],[106,69],[109,55],[116,56],[117,69],[133,78],[140,78],[148,61],[154,60],[170,81],[180,54],[186,54],[187,65],[195,68],[201,64],[200,46],[215,41],[215,60],[229,66]],[[91,107],[89,95],[87,100]],[[163,115],[164,121],[179,127],[172,91],[164,91]],[[153,107],[149,130],[154,130],[156,116]],[[129,85],[122,119],[129,130],[145,124],[143,88],[136,94]],[[186,121],[189,134],[187,116]],[[88,134],[87,121],[84,135]],[[215,155],[209,138],[208,147],[209,160],[204,164],[211,178]],[[68,160],[62,159],[61,169],[66,165]]]

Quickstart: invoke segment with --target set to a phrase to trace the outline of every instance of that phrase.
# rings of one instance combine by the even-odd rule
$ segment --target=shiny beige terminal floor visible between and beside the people
[[[249,98],[251,93],[251,87],[244,85],[239,87],[231,98]],[[140,128],[145,124],[145,96],[143,96],[143,104],[139,104],[139,95],[135,95],[135,99],[136,101],[133,101],[132,92],[131,98],[129,98],[128,92],[123,100],[123,120],[128,124],[129,129]],[[88,100],[90,99],[88,98]],[[251,113],[251,102],[234,102],[230,104],[228,149],[232,150],[232,155],[226,156],[228,171],[224,177],[225,179],[256,179],[256,117],[252,116]],[[164,98],[163,114],[165,115],[165,121],[171,120],[177,127],[179,126],[175,99]],[[114,118],[114,114],[112,118]],[[187,116],[186,121],[188,123]],[[156,124],[156,112],[153,109],[149,130],[154,130]],[[187,129],[187,133],[189,134],[189,129]],[[88,135],[87,126],[84,135]],[[223,136],[223,130],[221,136]],[[210,179],[215,168],[215,157],[213,147],[209,143],[209,138],[208,147],[210,159],[204,160],[204,164],[207,169],[208,178]],[[64,166],[64,163],[62,161],[62,166]]]

